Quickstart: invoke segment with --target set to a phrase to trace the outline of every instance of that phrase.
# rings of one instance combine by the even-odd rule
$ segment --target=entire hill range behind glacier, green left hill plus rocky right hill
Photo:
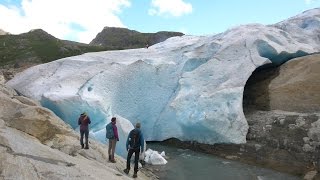
[[[140,33],[106,27],[90,44],[65,41],[37,29],[19,35],[0,35],[0,67],[41,64],[86,52],[142,48],[148,43],[182,36],[177,32]]]

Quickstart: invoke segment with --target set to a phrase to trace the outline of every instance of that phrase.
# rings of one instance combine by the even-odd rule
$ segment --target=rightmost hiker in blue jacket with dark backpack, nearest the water
[[[127,142],[126,142],[126,147],[128,151],[128,156],[127,156],[127,168],[124,169],[123,171],[128,174],[130,171],[130,161],[132,154],[134,153],[134,174],[133,178],[137,177],[137,172],[138,172],[138,162],[139,162],[139,153],[143,153],[143,148],[144,148],[144,138],[143,134],[140,130],[141,124],[137,123],[136,128],[130,131]],[[140,149],[141,148],[141,149]]]

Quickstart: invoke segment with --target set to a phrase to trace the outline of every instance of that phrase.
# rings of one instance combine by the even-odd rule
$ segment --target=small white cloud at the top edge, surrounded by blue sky
[[[192,5],[183,0],[152,0],[149,15],[179,17],[192,12]]]

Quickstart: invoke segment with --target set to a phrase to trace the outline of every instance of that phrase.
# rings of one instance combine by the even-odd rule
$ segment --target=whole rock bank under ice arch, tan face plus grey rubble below
[[[233,153],[293,174],[319,172],[319,70],[320,54],[256,70],[244,90],[247,143]]]

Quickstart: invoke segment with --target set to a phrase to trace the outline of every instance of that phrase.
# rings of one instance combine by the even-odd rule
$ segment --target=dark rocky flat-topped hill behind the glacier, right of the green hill
[[[180,32],[140,33],[126,28],[105,27],[90,44],[110,49],[134,49],[143,48],[146,44],[151,46],[170,37],[182,35],[184,34]]]

